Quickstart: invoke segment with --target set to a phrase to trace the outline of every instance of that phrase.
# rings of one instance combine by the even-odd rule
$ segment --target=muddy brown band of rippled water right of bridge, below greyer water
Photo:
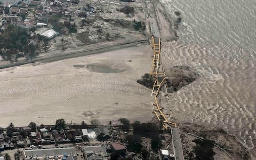
[[[171,42],[162,47],[167,66],[194,66],[199,78],[171,94],[169,103],[183,122],[213,125],[233,134],[249,148],[255,137],[255,59],[245,51],[223,47],[222,52],[211,46]],[[227,57],[227,54],[229,54]],[[233,56],[231,58],[231,56]]]

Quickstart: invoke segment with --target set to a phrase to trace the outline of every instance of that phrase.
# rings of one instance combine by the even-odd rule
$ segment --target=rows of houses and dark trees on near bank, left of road
[[[159,159],[158,154],[170,158],[171,135],[163,132],[162,125],[139,121],[130,124],[125,118],[118,121],[121,125],[109,122],[101,126],[97,119],[91,121],[92,125],[67,125],[64,119],[47,126],[31,122],[29,126],[14,127],[11,123],[0,130],[0,151],[18,148],[17,157],[26,160]]]

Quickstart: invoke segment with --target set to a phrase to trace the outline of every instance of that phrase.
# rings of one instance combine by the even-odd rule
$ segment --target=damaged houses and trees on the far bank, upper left
[[[30,60],[41,52],[114,41],[124,38],[122,34],[129,36],[125,32],[130,30],[124,28],[140,34],[140,30],[146,29],[145,22],[138,21],[141,18],[135,17],[134,7],[127,7],[127,4],[131,3],[119,0],[6,1],[0,4],[0,60]],[[117,13],[116,17],[112,13]],[[22,39],[12,36],[17,35],[16,30],[25,30],[19,35]],[[75,35],[70,39],[70,34]],[[58,35],[61,38],[51,41]]]

